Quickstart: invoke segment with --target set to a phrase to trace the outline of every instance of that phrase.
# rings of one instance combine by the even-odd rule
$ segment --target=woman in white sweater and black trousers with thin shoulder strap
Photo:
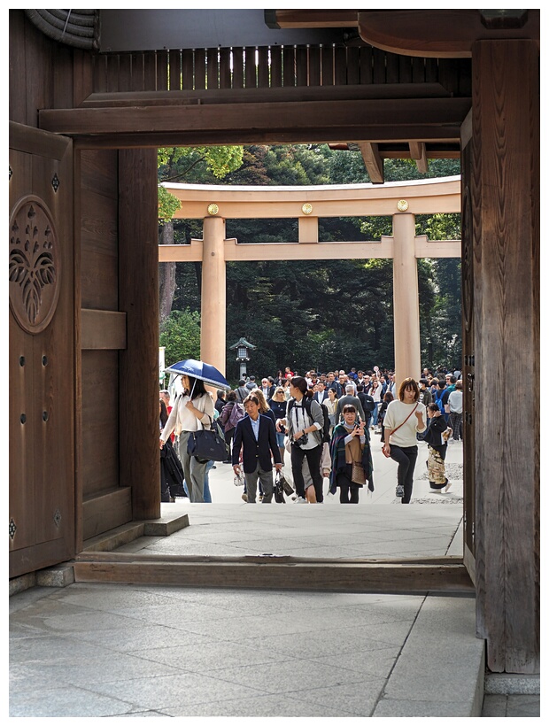
[[[383,453],[398,463],[398,485],[404,490],[402,504],[409,504],[417,460],[416,434],[427,429],[425,406],[419,402],[420,389],[414,378],[405,378],[398,389],[398,400],[387,406]]]

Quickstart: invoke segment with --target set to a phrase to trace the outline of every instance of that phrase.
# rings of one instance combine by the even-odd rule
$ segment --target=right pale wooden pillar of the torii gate
[[[414,214],[398,213],[393,229],[393,313],[395,329],[395,380],[421,375],[420,301],[415,259]]]

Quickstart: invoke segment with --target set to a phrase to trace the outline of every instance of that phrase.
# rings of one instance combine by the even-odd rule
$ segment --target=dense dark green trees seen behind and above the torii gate
[[[459,161],[431,160],[429,176],[460,174]],[[422,178],[413,162],[387,159],[387,181]],[[197,182],[185,178],[185,182]],[[303,185],[369,182],[359,152],[326,145],[252,146],[222,183]],[[215,182],[219,183],[219,182]],[[460,215],[416,219],[430,239],[460,238]],[[194,220],[174,221],[174,241],[201,236]],[[322,240],[379,239],[390,218],[321,220]],[[297,220],[228,220],[227,236],[239,242],[296,240]],[[174,309],[199,312],[199,263],[177,265]],[[422,365],[459,367],[461,348],[460,260],[418,262]],[[392,262],[388,259],[263,261],[227,265],[227,345],[244,336],[257,345],[248,373],[274,375],[279,368],[394,367]],[[188,354],[182,355],[187,357]],[[168,359],[167,362],[173,362]],[[228,378],[238,364],[227,351]]]

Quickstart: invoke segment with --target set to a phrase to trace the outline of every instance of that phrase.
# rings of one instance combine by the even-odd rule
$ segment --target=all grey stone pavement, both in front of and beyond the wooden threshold
[[[460,444],[448,460],[458,474]],[[431,495],[418,464],[415,505],[401,506],[394,463],[376,467],[375,496],[358,506],[252,506],[218,464],[213,504],[162,506],[189,514],[189,527],[117,552],[460,555],[460,480]],[[10,611],[11,716],[482,713],[484,644],[470,596],[73,583],[14,594]],[[536,715],[539,696],[496,688],[485,704],[492,717]]]

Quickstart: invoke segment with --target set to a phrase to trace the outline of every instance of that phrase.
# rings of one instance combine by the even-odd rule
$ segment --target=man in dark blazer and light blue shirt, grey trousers
[[[258,479],[263,487],[263,504],[273,499],[273,465],[277,471],[282,469],[280,451],[276,443],[274,423],[268,416],[259,413],[259,398],[251,393],[244,400],[247,416],[236,424],[233,438],[233,469],[240,474],[240,451],[246,480],[248,504],[255,504]]]

